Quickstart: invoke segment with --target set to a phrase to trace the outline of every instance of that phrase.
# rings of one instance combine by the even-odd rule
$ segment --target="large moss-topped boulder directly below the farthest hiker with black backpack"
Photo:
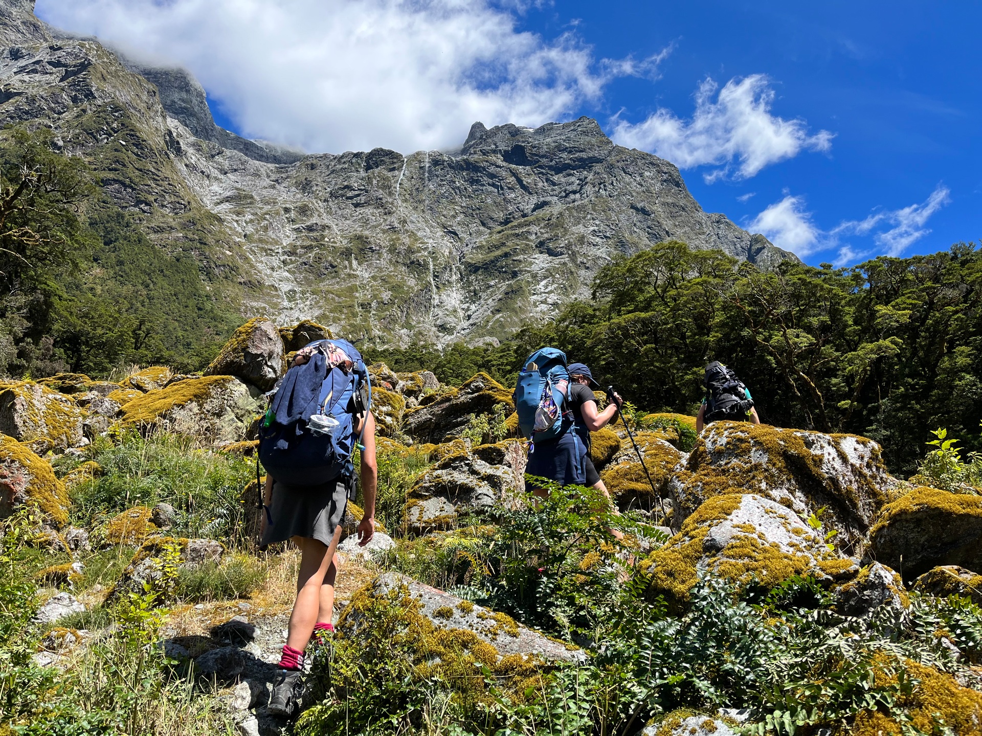
[[[826,528],[839,532],[836,544],[860,552],[899,485],[872,440],[714,422],[669,483],[669,493],[676,508],[674,529],[706,499],[739,489],[787,504],[805,517],[824,507]]]

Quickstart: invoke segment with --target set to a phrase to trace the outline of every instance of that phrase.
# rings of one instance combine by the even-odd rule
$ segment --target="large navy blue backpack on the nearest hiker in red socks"
[[[361,435],[355,442],[354,415],[367,416],[371,409],[371,381],[355,345],[331,339],[311,346],[316,347],[310,359],[287,371],[259,428],[263,467],[291,486],[352,476],[352,453],[355,445],[361,447]],[[351,370],[345,370],[347,364],[332,365],[338,350],[351,361]]]

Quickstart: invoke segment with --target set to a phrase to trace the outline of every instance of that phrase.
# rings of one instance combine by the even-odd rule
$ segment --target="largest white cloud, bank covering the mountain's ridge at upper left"
[[[247,136],[308,151],[408,153],[459,144],[476,120],[540,125],[660,61],[598,62],[572,33],[519,31],[492,0],[38,0],[36,12],[187,67]]]

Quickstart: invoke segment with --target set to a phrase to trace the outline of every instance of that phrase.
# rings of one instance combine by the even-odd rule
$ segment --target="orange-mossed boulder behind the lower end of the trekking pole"
[[[685,455],[657,432],[638,432],[634,442],[644,458],[644,467],[648,469],[654,490],[630,440],[621,442],[621,449],[600,472],[600,480],[622,509],[651,510],[658,503],[658,496],[664,497],[668,493],[672,472]]]

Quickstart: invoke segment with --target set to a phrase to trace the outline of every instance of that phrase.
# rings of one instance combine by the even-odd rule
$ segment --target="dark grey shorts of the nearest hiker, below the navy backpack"
[[[345,515],[348,489],[343,478],[302,488],[274,480],[269,505],[272,523],[267,517],[260,543],[263,547],[292,537],[315,539],[329,546]]]

